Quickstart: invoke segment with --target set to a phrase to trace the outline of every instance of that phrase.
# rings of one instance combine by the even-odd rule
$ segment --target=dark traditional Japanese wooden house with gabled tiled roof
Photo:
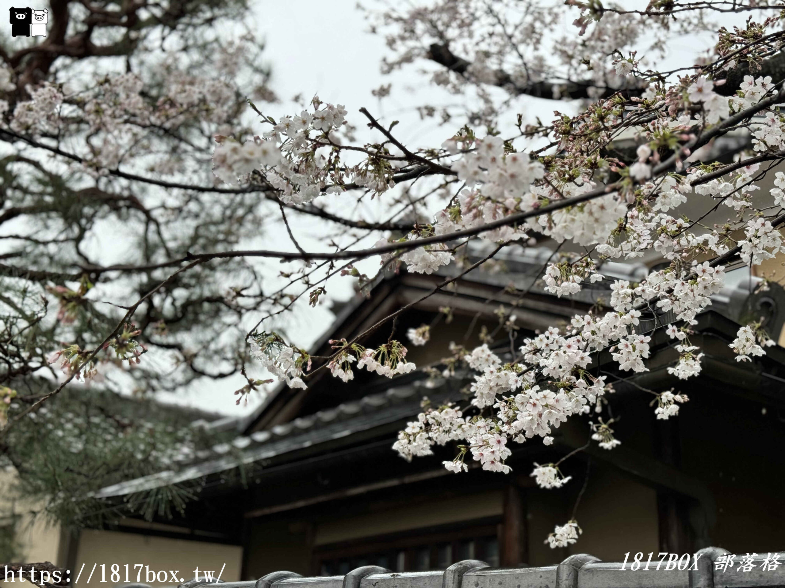
[[[473,270],[453,287],[433,293],[454,265],[440,275],[401,270],[378,278],[367,296],[336,310],[328,332],[312,348],[330,352],[329,339],[351,339],[390,312],[411,305],[396,322],[396,338],[407,328],[441,316],[424,347],[409,347],[418,367],[441,372],[451,341],[467,347],[480,332],[491,347],[509,354],[508,333],[495,310],[514,308],[515,344],[551,325],[565,325],[576,312],[607,300],[610,281],[586,285],[569,298],[548,294],[539,277],[553,249],[507,248],[494,270]],[[467,263],[483,252],[473,251]],[[611,281],[639,281],[654,265],[605,263]],[[648,372],[619,372],[604,352],[592,368],[614,382],[608,395],[613,428],[622,445],[610,451],[593,443],[561,466],[572,481],[563,488],[537,488],[533,463],[556,462],[586,445],[593,415],[574,416],[554,434],[553,445],[538,439],[513,443],[513,471],[497,474],[470,468],[451,474],[442,465],[455,447],[407,463],[391,449],[397,432],[434,404],[466,399],[468,374],[444,378],[421,370],[394,379],[356,370],[342,383],[321,370],[307,390],[281,387],[247,419],[224,423],[234,441],[161,474],[105,488],[102,496],[122,500],[161,485],[199,488],[184,515],[153,523],[124,519],[100,541],[144,534],[164,539],[237,546],[239,578],[257,579],[276,570],[301,575],[343,575],[374,564],[392,572],[448,568],[474,559],[493,566],[557,564],[570,554],[623,561],[626,552],[692,553],[717,546],[732,553],[776,551],[785,525],[778,472],[785,466],[785,350],[740,363],[728,344],[739,324],[760,318],[783,342],[785,292],[776,283],[761,289],[747,267],[728,268],[726,287],[699,314],[692,343],[704,352],[700,376],[686,381],[667,368],[677,361],[663,329],[652,334]],[[440,308],[450,307],[447,323]],[[641,332],[674,321],[668,314],[641,317]],[[361,341],[384,343],[389,323]],[[652,394],[675,388],[689,401],[678,416],[655,419]],[[606,413],[604,413],[606,414]],[[551,550],[545,543],[554,524],[572,515],[584,529],[578,543]],[[74,539],[71,561],[85,561]],[[108,542],[108,543],[107,543]],[[190,544],[190,543],[189,543]],[[169,560],[172,560],[172,555]]]

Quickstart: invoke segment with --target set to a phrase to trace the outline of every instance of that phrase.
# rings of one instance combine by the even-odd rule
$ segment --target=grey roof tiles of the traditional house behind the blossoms
[[[475,251],[473,254],[477,256],[480,252]],[[539,278],[543,265],[551,256],[552,251],[546,248],[511,247],[509,252],[498,256],[499,260],[506,263],[506,271],[490,273],[474,270],[467,274],[466,278],[499,287],[504,287],[513,281],[519,290],[531,289],[531,292],[544,293],[541,285],[532,286],[532,282]],[[450,274],[453,271],[457,270],[452,266],[442,268],[443,274]],[[648,268],[642,263],[606,262],[601,272],[608,278],[640,281],[648,274]],[[747,311],[750,293],[754,292],[760,281],[760,278],[750,276],[747,267],[729,272],[725,289],[712,297],[713,303],[710,309],[733,321],[739,321],[741,315]],[[609,282],[603,281],[586,285],[574,298],[586,303],[594,303],[601,296],[607,299],[609,291]],[[777,312],[782,317],[785,312],[785,295],[780,290],[778,296],[781,299],[772,294],[772,299],[775,306],[776,303],[780,303],[781,308]],[[556,299],[555,296],[553,298]],[[353,307],[343,312],[351,313]],[[641,320],[641,330],[653,328],[655,320],[658,325],[667,325],[676,318],[673,313],[667,313],[656,319]],[[184,453],[177,463],[173,463],[171,470],[108,486],[97,492],[96,496],[109,498],[194,480],[230,470],[241,464],[282,456],[312,445],[370,430],[375,426],[395,423],[416,415],[419,412],[419,401],[422,396],[428,395],[434,400],[439,400],[455,394],[455,390],[461,385],[459,378],[451,380],[450,383],[441,381],[436,384],[436,387],[426,388],[426,381],[428,386],[433,386],[432,380],[425,380],[396,387],[395,380],[392,380],[393,387],[380,394],[371,394],[359,401],[345,402],[310,416],[299,417],[289,423],[272,426],[269,430],[257,431],[249,436],[241,435],[231,442],[215,445],[210,449],[196,452],[195,455]]]

